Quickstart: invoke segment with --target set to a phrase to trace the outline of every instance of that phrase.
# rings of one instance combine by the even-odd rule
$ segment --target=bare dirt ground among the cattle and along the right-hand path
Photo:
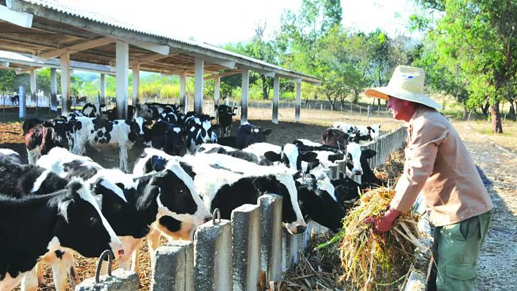
[[[267,111],[261,114],[268,115]],[[272,128],[272,134],[268,137],[268,141],[279,145],[296,138],[318,141],[323,130],[333,120],[338,120],[330,115],[326,121],[317,120],[314,122],[315,124],[294,123],[285,120],[276,125],[269,120],[258,120],[262,118],[260,115],[250,114],[249,117],[251,123],[263,128]],[[239,124],[237,118],[234,118],[234,120],[233,132]],[[384,127],[385,131],[387,128],[400,125],[388,120],[385,120],[385,123],[389,124]],[[515,286],[517,286],[517,276],[515,276],[517,272],[517,155],[500,150],[494,144],[487,142],[486,137],[474,132],[466,123],[458,123],[455,126],[472,154],[475,164],[479,167],[483,181],[494,202],[492,225],[480,256],[476,290],[515,289]],[[0,124],[0,148],[13,149],[26,157],[21,123]],[[130,168],[142,151],[143,146],[138,143],[129,151]],[[104,167],[118,167],[118,151],[116,148],[102,149],[101,152],[87,149],[87,155]],[[146,256],[145,248],[141,250],[141,256]],[[80,259],[78,261],[82,279],[91,276],[94,265],[95,259]],[[141,290],[148,290],[149,288],[148,272],[145,269],[141,277]],[[53,290],[51,278],[52,275],[47,268],[45,286],[38,290]]]

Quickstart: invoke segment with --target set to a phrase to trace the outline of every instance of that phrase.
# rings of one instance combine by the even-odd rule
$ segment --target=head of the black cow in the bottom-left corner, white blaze
[[[60,214],[53,229],[55,238],[49,243],[50,251],[64,246],[85,257],[98,257],[105,250],[122,256],[122,243],[102,215],[89,185],[81,179],[72,179],[62,191],[63,195],[50,202],[56,203]]]

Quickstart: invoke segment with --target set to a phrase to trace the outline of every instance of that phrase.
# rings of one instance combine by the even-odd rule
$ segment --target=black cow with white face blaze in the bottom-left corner
[[[63,190],[45,195],[19,198],[20,193],[11,190],[3,185],[0,194],[0,231],[10,234],[0,240],[0,290],[11,290],[24,275],[33,278],[29,282],[36,281],[31,270],[47,253],[71,249],[97,257],[111,250],[117,257],[124,255],[120,240],[82,180],[74,179]]]

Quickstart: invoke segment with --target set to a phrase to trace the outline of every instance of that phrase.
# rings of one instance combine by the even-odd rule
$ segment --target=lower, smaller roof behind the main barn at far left
[[[27,66],[27,67],[60,68],[59,59],[49,59],[49,60],[44,60],[44,61],[38,61],[28,55],[24,55],[24,54],[16,53],[16,52],[1,51],[1,50],[0,50],[0,62],[9,62],[9,63],[14,63],[14,64],[23,65],[23,66]],[[110,75],[115,74],[115,70],[110,66],[88,64],[88,63],[75,62],[75,61],[70,61],[70,69],[93,71],[93,72],[99,72],[99,73],[110,74]]]

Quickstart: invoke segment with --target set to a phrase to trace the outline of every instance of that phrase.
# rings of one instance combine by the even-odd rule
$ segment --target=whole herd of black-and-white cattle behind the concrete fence
[[[73,253],[111,250],[121,268],[139,273],[144,237],[152,261],[160,235],[192,240],[216,208],[230,219],[233,209],[265,193],[283,197],[282,221],[292,234],[310,220],[337,231],[359,189],[383,184],[367,162],[375,151],[360,144],[378,136],[378,125],[335,123],[322,143],[277,146],[266,142],[271,129],[249,123],[218,138],[234,109],[217,111],[216,125],[208,115],[161,104],[131,108],[129,121],[99,117],[91,104],[66,117],[27,120],[28,164],[0,149],[0,231],[9,234],[0,240],[0,290],[20,281],[36,290],[42,261],[52,266],[56,290],[65,290],[68,278],[77,284]],[[149,147],[130,172],[127,150],[138,139]],[[86,143],[116,144],[120,169],[85,156]],[[330,179],[327,169],[338,160],[346,161],[346,173]]]

